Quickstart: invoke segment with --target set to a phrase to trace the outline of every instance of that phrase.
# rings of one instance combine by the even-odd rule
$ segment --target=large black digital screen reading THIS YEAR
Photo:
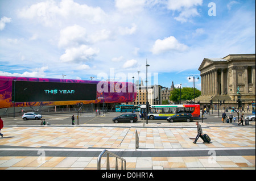
[[[13,81],[14,102],[96,100],[97,85],[90,83]]]

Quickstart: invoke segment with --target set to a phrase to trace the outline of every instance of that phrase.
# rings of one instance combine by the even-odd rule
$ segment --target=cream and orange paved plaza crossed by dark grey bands
[[[195,123],[7,126],[0,139],[0,169],[97,169],[104,149],[125,158],[127,169],[255,169],[252,124],[202,123],[210,144],[200,139],[193,144]],[[101,167],[106,168],[106,157]]]

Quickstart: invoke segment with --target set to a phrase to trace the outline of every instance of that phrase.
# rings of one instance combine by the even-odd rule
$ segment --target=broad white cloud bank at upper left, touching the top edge
[[[18,11],[18,16],[36,19],[44,26],[56,26],[56,23],[61,23],[60,18],[68,19],[70,16],[82,18],[90,23],[102,23],[106,18],[105,12],[100,7],[80,5],[73,0],[62,0],[59,4],[53,0],[36,3]]]

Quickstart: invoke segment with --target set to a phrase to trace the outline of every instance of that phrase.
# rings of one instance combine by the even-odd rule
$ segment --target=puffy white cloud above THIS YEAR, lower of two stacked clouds
[[[60,57],[63,62],[79,62],[88,61],[96,56],[100,51],[90,48],[86,45],[80,47],[68,48],[65,50],[65,54]]]

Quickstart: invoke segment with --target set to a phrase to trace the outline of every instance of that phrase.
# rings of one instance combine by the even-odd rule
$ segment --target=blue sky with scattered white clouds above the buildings
[[[193,87],[204,58],[255,53],[254,0],[0,0],[0,75]],[[201,89],[201,79],[195,86]]]

